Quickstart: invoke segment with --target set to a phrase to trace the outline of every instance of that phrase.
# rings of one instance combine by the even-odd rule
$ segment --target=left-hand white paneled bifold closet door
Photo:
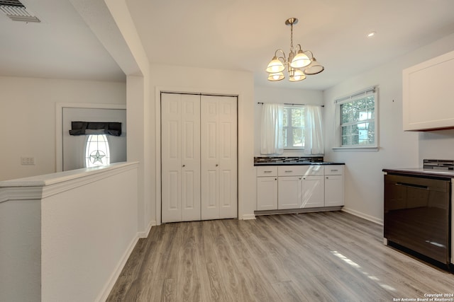
[[[161,93],[162,223],[201,219],[200,95]]]

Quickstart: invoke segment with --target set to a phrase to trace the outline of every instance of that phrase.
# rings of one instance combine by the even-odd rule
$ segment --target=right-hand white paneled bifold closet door
[[[238,217],[237,97],[201,95],[201,219]]]

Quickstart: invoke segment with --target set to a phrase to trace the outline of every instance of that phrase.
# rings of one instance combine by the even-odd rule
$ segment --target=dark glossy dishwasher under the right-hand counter
[[[385,174],[384,238],[448,265],[450,178]]]

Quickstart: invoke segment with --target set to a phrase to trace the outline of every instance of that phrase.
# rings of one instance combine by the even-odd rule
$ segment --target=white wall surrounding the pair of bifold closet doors
[[[247,71],[197,69],[184,66],[151,65],[150,86],[155,89],[146,119],[155,119],[156,188],[160,188],[160,91],[216,93],[238,95],[238,218],[253,218],[255,210],[255,169],[253,164],[254,95],[253,74]],[[156,190],[155,207],[160,222],[160,190]]]

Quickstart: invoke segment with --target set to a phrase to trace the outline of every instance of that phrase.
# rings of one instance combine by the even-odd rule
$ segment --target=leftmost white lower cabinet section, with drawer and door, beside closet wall
[[[257,168],[257,209],[277,209],[277,167]]]

